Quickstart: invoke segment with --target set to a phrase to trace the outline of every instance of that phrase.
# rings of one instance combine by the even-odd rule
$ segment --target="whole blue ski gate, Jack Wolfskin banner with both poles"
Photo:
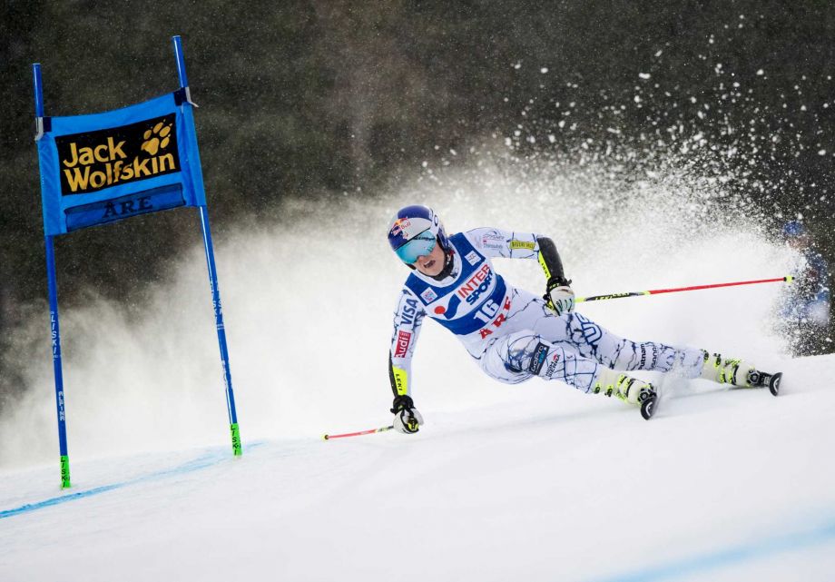
[[[194,206],[200,212],[232,452],[235,456],[240,456],[242,452],[200,152],[194,129],[194,104],[185,73],[180,36],[172,37],[172,42],[180,88],[140,104],[103,113],[45,116],[41,65],[33,64],[35,143],[44,211],[62,488],[70,487],[70,461],[54,237],[149,212],[180,206]]]

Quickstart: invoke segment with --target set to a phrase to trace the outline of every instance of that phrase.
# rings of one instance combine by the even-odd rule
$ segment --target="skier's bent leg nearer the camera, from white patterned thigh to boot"
[[[555,344],[531,330],[497,339],[482,354],[480,364],[488,375],[510,384],[539,376],[543,380],[562,380],[586,393],[614,394],[633,404],[654,394],[651,384],[615,374],[597,360],[583,357],[572,346]]]

